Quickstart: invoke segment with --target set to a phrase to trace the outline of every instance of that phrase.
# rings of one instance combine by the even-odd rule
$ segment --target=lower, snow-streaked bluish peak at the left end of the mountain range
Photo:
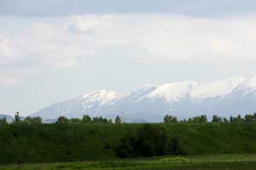
[[[119,99],[119,94],[111,90],[98,90],[90,94],[83,94],[38,111],[32,116],[41,116],[44,119],[55,119],[59,116],[81,117],[84,114],[97,116],[102,108],[113,104]]]

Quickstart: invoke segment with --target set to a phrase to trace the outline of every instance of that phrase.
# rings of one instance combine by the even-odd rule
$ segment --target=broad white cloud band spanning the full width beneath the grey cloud
[[[11,67],[20,61],[32,72],[75,68],[88,57],[110,59],[116,51],[120,57],[151,61],[192,60],[224,66],[256,61],[256,16],[96,14],[53,20],[33,20],[15,37],[0,31],[0,71],[1,65]],[[12,82],[7,77],[2,82]]]

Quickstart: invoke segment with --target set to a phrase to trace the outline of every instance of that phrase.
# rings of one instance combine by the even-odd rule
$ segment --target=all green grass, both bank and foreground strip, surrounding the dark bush
[[[116,152],[144,124],[55,123],[0,126],[0,169],[256,169],[256,123],[157,123],[178,139],[180,155]]]

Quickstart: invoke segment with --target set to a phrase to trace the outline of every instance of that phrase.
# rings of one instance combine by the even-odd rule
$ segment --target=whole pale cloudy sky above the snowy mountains
[[[251,0],[1,0],[0,113],[98,89],[256,76]]]

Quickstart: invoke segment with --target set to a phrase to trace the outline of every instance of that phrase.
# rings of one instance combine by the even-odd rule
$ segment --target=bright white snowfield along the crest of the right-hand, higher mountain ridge
[[[243,77],[235,77],[220,82],[174,82],[158,86],[149,98],[164,98],[175,102],[180,99],[206,99],[229,94],[238,84],[245,82]]]

